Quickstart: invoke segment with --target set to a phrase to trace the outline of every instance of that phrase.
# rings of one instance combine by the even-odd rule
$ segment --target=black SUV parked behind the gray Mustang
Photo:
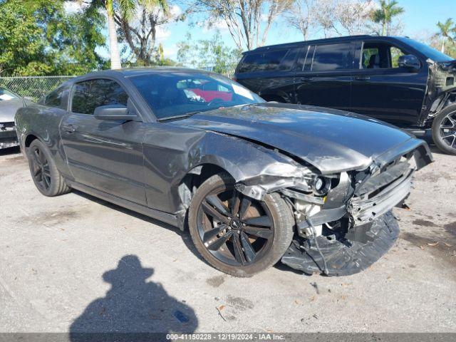
[[[234,78],[269,101],[350,110],[456,154],[456,60],[405,37],[350,36],[244,53]]]

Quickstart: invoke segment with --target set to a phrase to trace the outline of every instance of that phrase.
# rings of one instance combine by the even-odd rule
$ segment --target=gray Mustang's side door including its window
[[[76,182],[138,204],[146,204],[142,121],[98,120],[100,105],[126,105],[138,113],[128,93],[109,78],[73,85],[70,111],[61,123],[68,166]]]

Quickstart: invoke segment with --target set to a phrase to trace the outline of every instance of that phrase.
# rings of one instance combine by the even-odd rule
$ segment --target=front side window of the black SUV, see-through
[[[407,54],[405,51],[388,43],[367,42],[363,44],[361,68],[399,68],[398,59],[405,54]]]

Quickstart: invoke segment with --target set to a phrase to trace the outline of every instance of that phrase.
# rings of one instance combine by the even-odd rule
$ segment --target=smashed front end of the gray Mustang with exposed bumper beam
[[[425,142],[413,139],[373,158],[365,170],[321,175],[304,167],[243,180],[237,189],[257,199],[279,192],[293,209],[296,234],[284,264],[306,274],[345,276],[393,246],[399,227],[391,209],[410,194],[415,170],[430,162]]]

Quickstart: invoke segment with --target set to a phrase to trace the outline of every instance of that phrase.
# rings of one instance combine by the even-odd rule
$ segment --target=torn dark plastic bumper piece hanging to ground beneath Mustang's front
[[[372,222],[356,226],[339,239],[323,235],[297,240],[290,245],[281,261],[306,274],[323,274],[323,254],[328,276],[348,276],[367,269],[393,247],[398,239],[399,225],[392,212]],[[318,239],[316,248],[315,239]]]

